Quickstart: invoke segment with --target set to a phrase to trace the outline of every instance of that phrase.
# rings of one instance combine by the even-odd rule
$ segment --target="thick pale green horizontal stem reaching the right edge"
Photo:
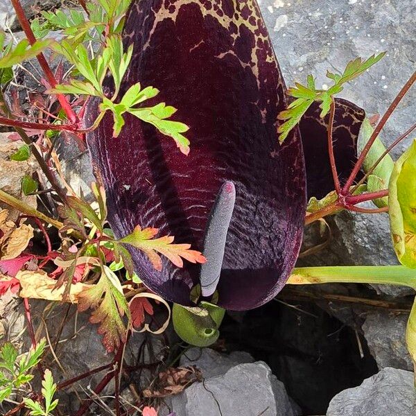
[[[300,267],[293,270],[287,282],[287,284],[322,283],[394,284],[416,290],[416,269],[405,266]]]

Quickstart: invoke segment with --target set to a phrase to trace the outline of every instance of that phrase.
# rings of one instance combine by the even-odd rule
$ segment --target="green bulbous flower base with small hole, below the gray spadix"
[[[208,347],[218,340],[224,315],[225,309],[209,302],[200,302],[200,307],[194,308],[173,304],[173,327],[186,343]]]

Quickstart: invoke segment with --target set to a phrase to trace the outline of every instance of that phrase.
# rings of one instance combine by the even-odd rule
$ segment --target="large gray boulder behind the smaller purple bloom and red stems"
[[[410,0],[262,0],[260,3],[277,59],[288,85],[312,73],[317,85],[330,85],[327,69],[340,70],[349,60],[387,51],[367,73],[345,86],[343,98],[367,114],[383,114],[414,71],[416,40]],[[401,101],[381,133],[392,143],[415,122],[416,89]],[[392,152],[397,159],[415,135]],[[396,264],[386,214],[336,216],[329,249],[306,259],[309,266]],[[336,241],[338,240],[339,241]],[[399,296],[408,289],[376,286]]]

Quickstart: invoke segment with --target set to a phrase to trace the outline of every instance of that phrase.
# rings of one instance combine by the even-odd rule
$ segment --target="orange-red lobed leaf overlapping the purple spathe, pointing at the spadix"
[[[162,270],[162,259],[157,253],[163,254],[177,267],[184,266],[182,258],[191,263],[205,263],[207,261],[200,252],[190,250],[191,244],[173,244],[173,236],[163,236],[159,237],[159,239],[153,239],[158,232],[159,230],[157,228],[149,227],[141,229],[137,225],[132,233],[119,241],[145,252],[153,267],[158,271]]]

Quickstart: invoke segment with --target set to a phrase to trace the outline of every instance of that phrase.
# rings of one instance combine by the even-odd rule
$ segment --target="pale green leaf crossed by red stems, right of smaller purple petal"
[[[370,139],[374,128],[370,124],[368,119],[363,121],[361,125],[360,135],[358,136],[358,153],[361,153],[365,144]],[[383,155],[385,152],[385,146],[379,139],[376,138],[374,144],[370,148],[367,156],[364,159],[363,169],[365,172],[370,171],[372,166],[377,162],[377,160]],[[390,155],[385,155],[381,162],[374,168],[372,174],[369,175],[367,180],[367,189],[369,192],[376,192],[381,191],[381,189],[386,189],[388,187],[388,182],[390,180],[390,175],[392,173],[393,168],[395,167],[395,163]],[[379,207],[387,207],[388,206],[388,197],[378,198],[373,201],[374,204]]]

